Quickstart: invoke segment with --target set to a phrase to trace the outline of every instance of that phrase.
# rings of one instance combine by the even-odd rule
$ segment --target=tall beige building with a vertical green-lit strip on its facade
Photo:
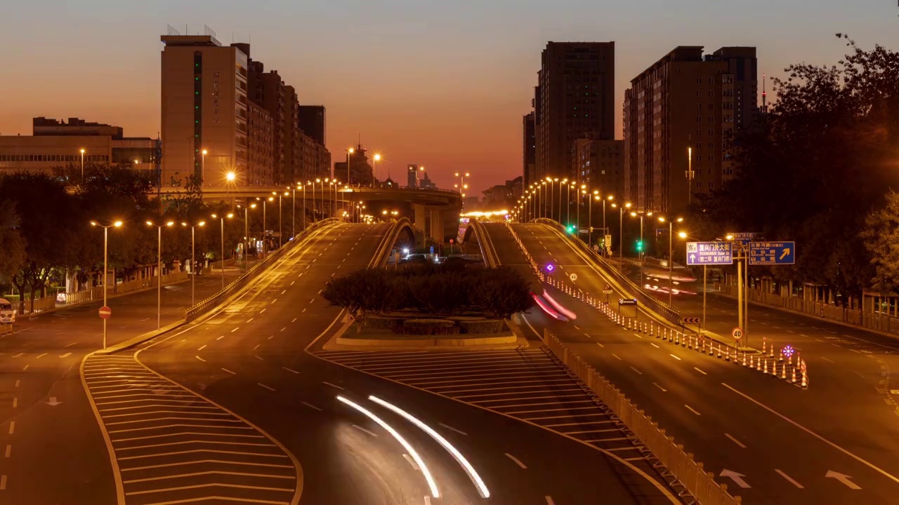
[[[163,35],[162,182],[247,178],[248,56],[214,35]],[[206,155],[203,155],[203,151]]]

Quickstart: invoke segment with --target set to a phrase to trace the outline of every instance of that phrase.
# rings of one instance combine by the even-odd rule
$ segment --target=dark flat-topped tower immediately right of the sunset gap
[[[614,104],[615,42],[548,42],[533,101],[535,180],[575,177],[575,141],[615,138]]]

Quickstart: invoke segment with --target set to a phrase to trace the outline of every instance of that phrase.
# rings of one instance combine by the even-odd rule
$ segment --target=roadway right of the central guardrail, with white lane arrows
[[[578,288],[601,297],[606,274],[563,235],[548,226],[512,227],[539,264],[552,262],[559,276],[576,273]],[[501,261],[526,269],[505,226],[486,228]],[[577,319],[563,323],[527,315],[534,332],[556,333],[694,452],[708,471],[724,472],[719,480],[744,500],[899,502],[899,416],[885,394],[891,370],[899,366],[894,342],[752,307],[753,343],[765,337],[776,345],[791,342],[802,351],[810,370],[810,386],[802,390],[628,332],[592,307],[554,295]],[[713,310],[734,310],[735,302],[727,299],[713,303]],[[710,320],[709,327],[726,333],[730,325],[721,318],[717,323]]]

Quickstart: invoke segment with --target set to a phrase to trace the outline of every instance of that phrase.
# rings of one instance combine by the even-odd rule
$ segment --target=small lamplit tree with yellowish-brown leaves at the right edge
[[[899,288],[899,193],[886,194],[885,205],[865,218],[860,236],[871,253],[873,287],[881,293],[894,292]]]

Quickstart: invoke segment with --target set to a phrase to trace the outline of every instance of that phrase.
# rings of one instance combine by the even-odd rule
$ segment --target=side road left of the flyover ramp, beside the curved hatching
[[[220,288],[218,275],[202,276],[195,296]],[[156,329],[156,289],[113,297],[108,305],[110,345]],[[190,282],[164,286],[162,325],[182,319],[190,305]],[[79,373],[85,355],[102,346],[100,306],[22,318],[15,332],[0,337],[0,503],[113,502],[109,457]]]

